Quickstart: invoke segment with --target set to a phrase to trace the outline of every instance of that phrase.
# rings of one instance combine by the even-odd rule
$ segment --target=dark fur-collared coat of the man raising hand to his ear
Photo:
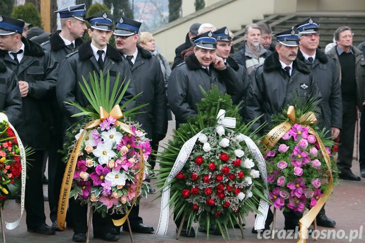
[[[236,72],[227,65],[224,70],[217,70],[211,65],[210,74],[202,68],[195,55],[187,58],[172,70],[168,80],[167,99],[175,115],[176,127],[187,121],[189,116],[197,115],[197,103],[204,95],[199,86],[206,91],[212,85],[218,86],[222,94],[236,95],[242,91],[242,82]]]

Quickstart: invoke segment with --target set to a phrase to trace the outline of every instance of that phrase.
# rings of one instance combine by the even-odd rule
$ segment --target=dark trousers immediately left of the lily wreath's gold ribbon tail
[[[48,151],[48,198],[52,222],[57,220],[58,200],[66,167],[66,164],[62,161],[63,155],[58,153],[59,149],[62,149],[62,136],[54,136],[51,148]]]

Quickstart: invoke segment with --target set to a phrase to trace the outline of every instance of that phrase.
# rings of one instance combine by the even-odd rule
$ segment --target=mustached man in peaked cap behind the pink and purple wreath
[[[248,91],[245,107],[245,122],[250,122],[256,117],[261,119],[253,125],[258,128],[265,121],[268,125],[264,132],[271,127],[271,115],[281,113],[287,105],[295,105],[295,99],[300,99],[304,104],[310,98],[318,101],[321,94],[314,83],[312,74],[307,66],[299,61],[298,31],[287,30],[274,35],[276,37],[276,52],[265,59],[264,65],[259,66],[250,76],[252,82]],[[318,119],[320,120],[320,119]],[[286,230],[295,230],[299,226],[299,219],[303,213],[293,210],[283,211]],[[273,220],[271,210],[265,222],[265,229]],[[253,233],[257,231],[252,229]]]

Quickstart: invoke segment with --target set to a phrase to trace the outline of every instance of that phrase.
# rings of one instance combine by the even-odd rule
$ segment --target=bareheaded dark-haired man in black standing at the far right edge
[[[341,77],[342,131],[339,135],[337,168],[344,180],[361,180],[351,171],[357,110],[364,108],[365,59],[360,50],[352,46],[352,30],[341,26],[334,32],[336,45],[328,55],[336,60]],[[359,163],[360,175],[365,177],[365,119],[360,119]]]

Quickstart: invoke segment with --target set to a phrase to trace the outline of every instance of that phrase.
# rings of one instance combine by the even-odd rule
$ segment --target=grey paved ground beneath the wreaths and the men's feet
[[[173,122],[169,122],[168,136],[164,141],[167,141],[172,134]],[[359,175],[359,166],[357,161],[353,161],[353,172]],[[153,182],[153,181],[152,181]],[[44,191],[47,193],[47,185],[44,185]],[[141,200],[140,206],[140,216],[142,216],[144,223],[148,225],[153,225],[157,228],[159,213],[160,213],[160,200],[156,199],[156,195],[148,195],[148,198],[143,198]],[[325,231],[321,231],[318,242],[349,242],[349,236],[356,236],[352,239],[352,242],[364,242],[365,240],[365,210],[363,209],[365,205],[365,178],[361,181],[347,181],[341,180],[341,184],[334,188],[333,194],[326,203],[326,212],[330,218],[333,218],[337,225],[335,228],[323,228],[318,227],[319,230],[322,229],[332,229],[336,231],[327,232],[330,237],[323,238]],[[5,203],[3,210],[5,220],[8,222],[13,222],[16,220],[18,212],[20,210],[20,204],[16,203],[14,200],[8,200]],[[49,205],[45,201],[45,210],[47,216],[47,223],[51,224],[49,219]],[[284,217],[281,212],[277,213],[276,217],[276,228],[282,229],[284,227]],[[253,213],[249,214],[246,218],[247,226],[244,229],[244,239],[241,238],[240,230],[233,229],[230,230],[230,242],[260,242],[264,241],[263,235],[259,237],[256,234],[251,233],[251,228],[254,223]],[[357,231],[355,231],[357,230]],[[91,229],[92,232],[92,229]],[[284,231],[280,231],[278,237],[283,237]],[[13,230],[6,229],[6,240],[7,242],[72,242],[72,228],[67,229],[62,232],[56,232],[55,235],[40,235],[36,233],[27,232],[27,226],[25,222],[25,214],[23,215],[21,224]],[[91,234],[92,235],[92,234]],[[288,235],[287,235],[288,236]],[[334,236],[334,238],[333,238]],[[172,220],[169,221],[169,227],[167,235],[157,236],[156,234],[133,234],[134,242],[178,242],[175,239],[175,225]],[[209,240],[207,240],[207,235],[199,232],[197,238],[192,237],[180,237],[179,241],[184,242],[225,242],[222,236],[210,235]],[[120,242],[130,242],[129,234],[127,232],[121,231]],[[267,242],[273,240],[266,239]],[[276,238],[275,242],[296,242],[297,239],[279,239]],[[94,239],[90,237],[90,242],[104,242],[100,239]],[[307,242],[314,242],[310,237]]]

